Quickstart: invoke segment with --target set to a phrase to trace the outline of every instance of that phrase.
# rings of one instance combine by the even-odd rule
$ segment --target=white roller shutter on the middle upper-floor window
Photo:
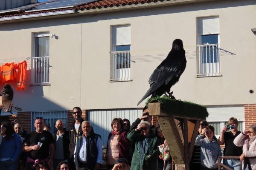
[[[113,45],[131,44],[131,26],[113,26]]]

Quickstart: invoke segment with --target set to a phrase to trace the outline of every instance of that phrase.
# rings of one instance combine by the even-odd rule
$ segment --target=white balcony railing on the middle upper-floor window
[[[130,51],[111,51],[110,81],[131,80],[131,53]]]

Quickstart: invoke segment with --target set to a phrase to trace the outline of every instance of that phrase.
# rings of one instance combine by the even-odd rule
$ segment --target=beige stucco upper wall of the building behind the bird
[[[219,16],[222,77],[196,77],[197,17]],[[15,92],[25,111],[137,108],[148,78],[183,40],[187,66],[172,88],[177,99],[202,105],[256,103],[256,2],[238,0],[119,11],[51,20],[0,24],[0,64],[32,55],[32,33],[49,31],[50,86],[28,86]],[[111,26],[131,24],[130,82],[109,82]],[[166,55],[163,55],[166,54]],[[154,56],[149,56],[154,55]],[[158,57],[154,61],[153,57]],[[15,59],[10,59],[9,62]],[[16,61],[16,62],[17,62]],[[28,80],[29,81],[29,80]],[[75,97],[71,102],[70,97]],[[139,107],[144,107],[143,103]]]

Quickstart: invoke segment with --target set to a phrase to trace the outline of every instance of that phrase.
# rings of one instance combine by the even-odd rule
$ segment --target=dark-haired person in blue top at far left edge
[[[15,133],[10,122],[1,124],[1,134],[3,139],[0,145],[0,170],[17,170],[22,150],[20,136]]]

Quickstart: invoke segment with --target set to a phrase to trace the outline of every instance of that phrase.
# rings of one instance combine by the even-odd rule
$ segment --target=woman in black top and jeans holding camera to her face
[[[227,131],[230,130],[230,131]],[[241,132],[238,131],[238,120],[234,117],[231,117],[228,120],[228,125],[225,125],[222,130],[218,143],[220,145],[225,144],[224,156],[240,156],[243,152],[242,147],[237,147],[234,144],[234,139]],[[242,163],[239,159],[223,159],[223,164],[232,168],[233,170],[241,170]]]

